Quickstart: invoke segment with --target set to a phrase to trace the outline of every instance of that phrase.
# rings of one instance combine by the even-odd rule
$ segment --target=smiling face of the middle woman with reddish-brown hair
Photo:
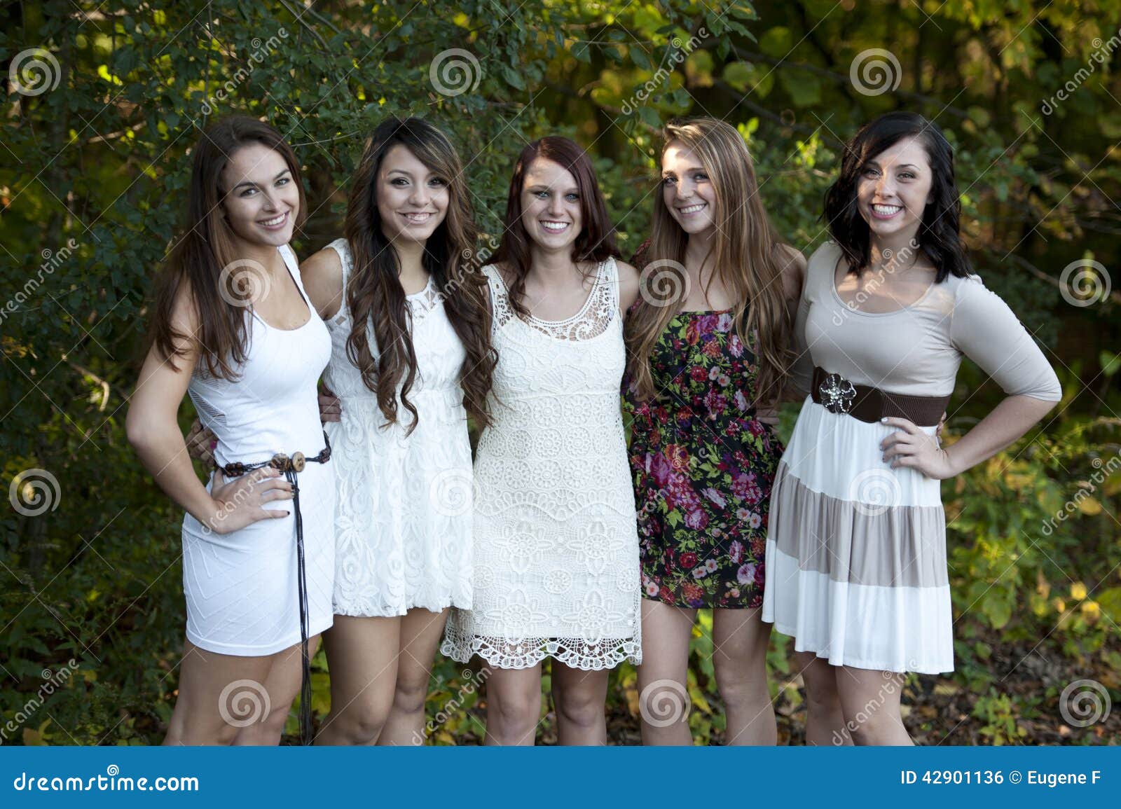
[[[572,171],[544,157],[529,165],[521,183],[521,225],[541,248],[572,248],[584,226],[580,187]]]

